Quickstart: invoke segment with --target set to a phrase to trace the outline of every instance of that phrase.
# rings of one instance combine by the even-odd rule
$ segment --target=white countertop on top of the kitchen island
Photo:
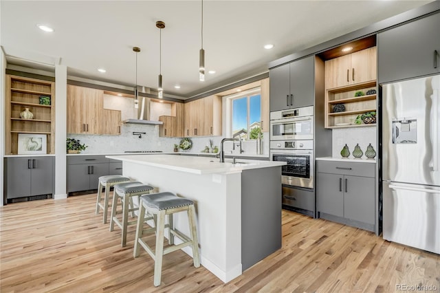
[[[244,159],[237,159],[237,163],[232,164],[232,159],[227,159],[225,160],[226,162],[221,163],[217,158],[166,154],[158,155],[157,153],[155,155],[106,155],[106,158],[194,174],[236,173],[243,170],[283,166],[286,164],[286,162]]]

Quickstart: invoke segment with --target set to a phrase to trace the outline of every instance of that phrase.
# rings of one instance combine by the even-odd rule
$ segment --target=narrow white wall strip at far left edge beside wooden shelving
[[[6,59],[0,49],[0,206],[3,206],[3,158],[5,155],[5,70]]]

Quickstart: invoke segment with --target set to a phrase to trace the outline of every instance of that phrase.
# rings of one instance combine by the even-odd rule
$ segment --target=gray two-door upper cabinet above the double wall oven
[[[315,57],[270,69],[270,111],[314,105]]]

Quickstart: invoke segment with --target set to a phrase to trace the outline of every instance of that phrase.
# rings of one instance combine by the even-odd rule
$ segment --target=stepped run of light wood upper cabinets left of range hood
[[[121,113],[103,109],[104,91],[67,85],[67,133],[120,134]]]

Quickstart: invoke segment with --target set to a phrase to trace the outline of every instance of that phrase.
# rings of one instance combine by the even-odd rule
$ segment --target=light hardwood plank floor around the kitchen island
[[[95,200],[78,195],[0,208],[0,292],[401,292],[398,284],[440,290],[438,254],[286,210],[283,248],[238,278],[223,284],[179,250],[164,257],[162,285],[154,287],[151,257],[142,251],[133,259],[134,227],[122,248],[120,230],[109,232],[95,215]]]

